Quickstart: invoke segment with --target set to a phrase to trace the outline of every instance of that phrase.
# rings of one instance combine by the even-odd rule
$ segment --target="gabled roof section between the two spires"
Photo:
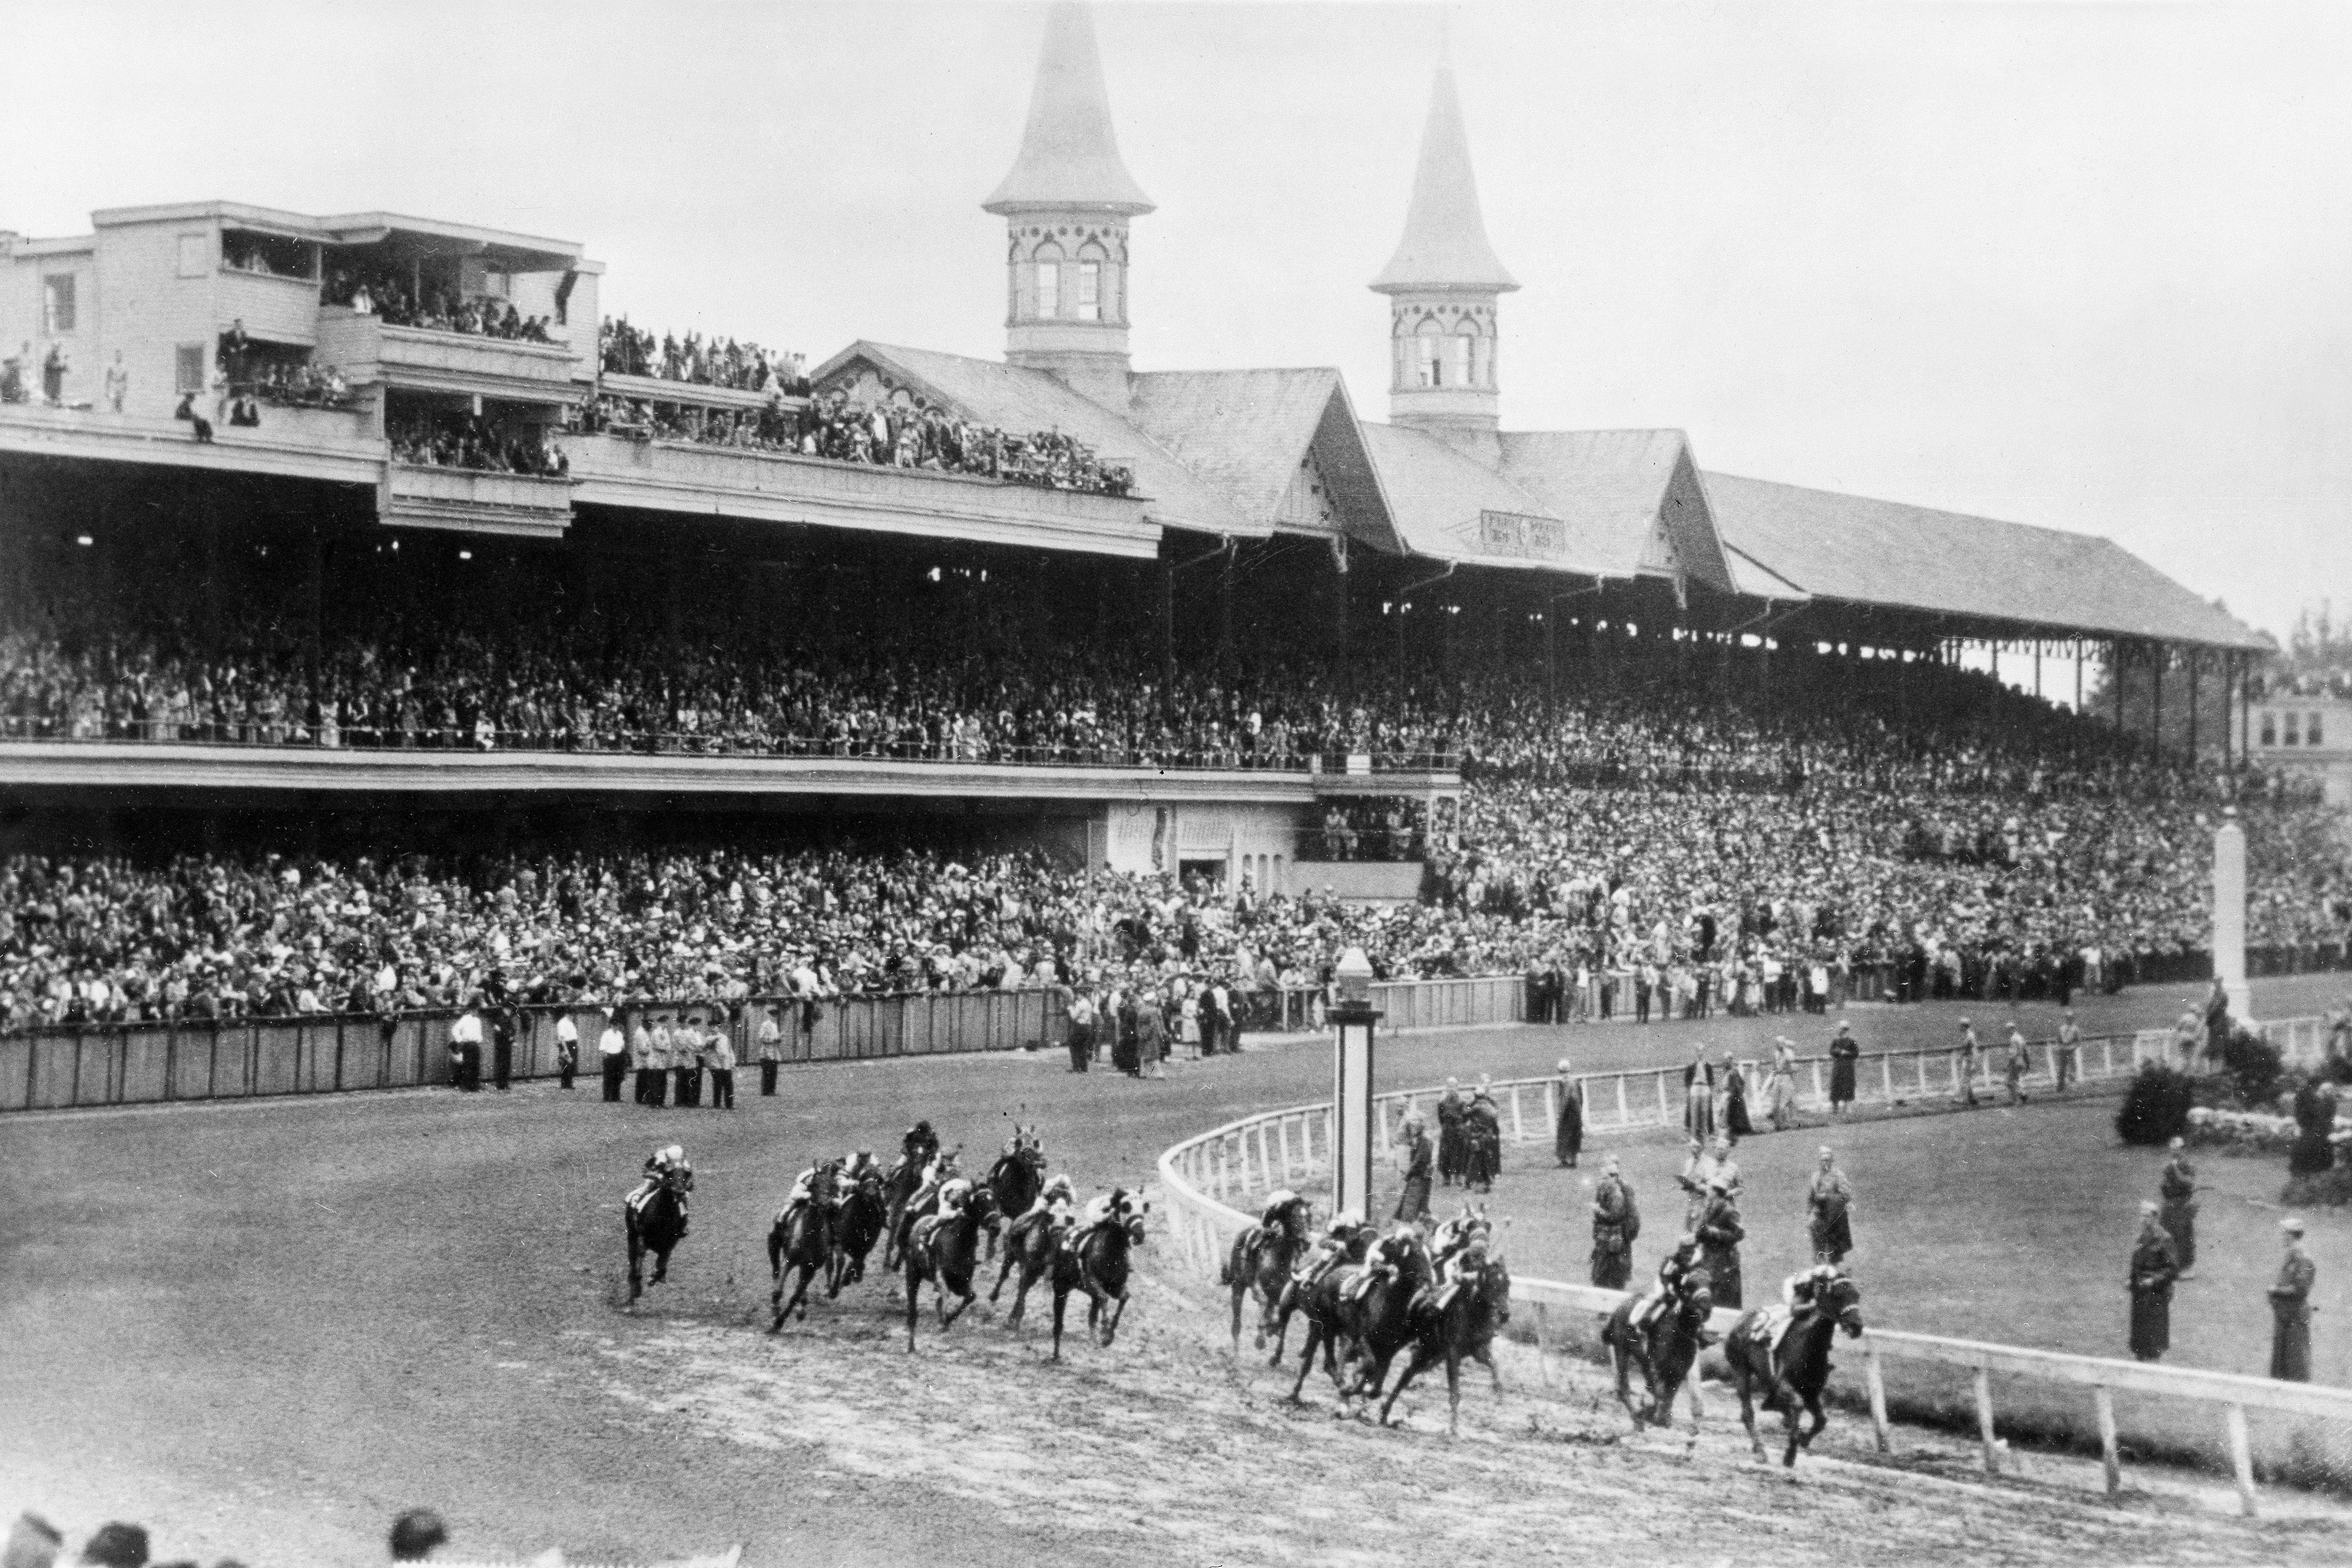
[[[1148,371],[1129,388],[1134,421],[1242,517],[1272,522],[1312,451],[1350,531],[1402,548],[1336,369]]]

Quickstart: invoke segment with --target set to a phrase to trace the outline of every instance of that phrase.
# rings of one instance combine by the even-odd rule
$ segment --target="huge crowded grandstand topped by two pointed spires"
[[[437,219],[188,202],[0,233],[7,849],[125,856],[146,870],[92,875],[165,905],[226,875],[280,931],[247,879],[287,853],[339,893],[294,929],[355,943],[346,978],[407,959],[445,1001],[506,952],[496,922],[419,952],[383,900],[496,910],[517,867],[616,912],[637,882],[793,884],[793,919],[729,893],[710,940],[830,950],[863,987],[1150,961],[1120,912],[1169,933],[1188,900],[1211,940],[1169,964],[1310,980],[1343,938],[1423,973],[1778,945],[1985,976],[2194,950],[2183,856],[2237,802],[2256,940],[2343,952],[2317,806],[2249,766],[2260,632],[2110,541],[1708,473],[1679,430],[1503,430],[1517,284],[1446,68],[1371,284],[1388,423],[1331,369],[1131,369],[1152,205],[1077,9],[985,207],[1002,362],[656,336],[600,315],[586,244]],[[2032,698],[1964,670],[1985,649],[2032,658]],[[2037,701],[2044,654],[2074,712]],[[2232,696],[2161,755],[2079,712],[2084,661],[2152,672],[2159,717],[2166,672]],[[866,870],[826,858],[849,842]],[[696,870],[715,844],[767,858]],[[412,853],[440,860],[358,870]],[[1021,940],[990,931],[985,964],[931,964],[978,943],[941,910],[826,926],[894,875],[971,907],[955,856],[1009,856]],[[205,947],[167,914],[59,947],[71,914],[40,910],[73,875],[9,884],[19,1018],[73,985],[56,952],[143,950],[160,994]],[[574,987],[706,978],[642,959],[659,919],[607,943],[564,914],[534,961]],[[1700,922],[1738,950],[1691,950]],[[774,978],[736,957],[731,983]]]

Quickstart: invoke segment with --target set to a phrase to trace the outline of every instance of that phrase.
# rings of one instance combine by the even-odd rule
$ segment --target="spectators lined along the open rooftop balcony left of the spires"
[[[771,397],[760,409],[699,409],[602,393],[586,409],[581,428],[633,440],[781,451],[835,463],[967,473],[1007,484],[1077,489],[1098,496],[1124,496],[1136,482],[1131,470],[1103,463],[1084,442],[1061,430],[1014,435],[957,418],[924,402],[866,404],[840,390],[790,407],[781,397]]]

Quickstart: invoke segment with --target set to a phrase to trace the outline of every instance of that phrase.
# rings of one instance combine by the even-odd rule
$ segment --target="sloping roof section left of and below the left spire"
[[[1101,461],[1134,470],[1143,515],[1162,527],[1244,536],[1272,531],[1270,512],[1258,517],[1240,512],[1218,484],[1195,475],[1183,458],[1143,428],[1070,390],[1042,369],[858,339],[809,371],[809,381],[816,386],[835,381],[858,360],[880,371],[884,381],[906,386],[974,423],[1016,435],[1061,430],[1084,442]]]

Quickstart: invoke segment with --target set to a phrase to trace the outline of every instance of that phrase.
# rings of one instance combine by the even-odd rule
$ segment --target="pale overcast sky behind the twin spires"
[[[1000,355],[1035,5],[0,0],[0,226],[228,197],[583,240],[640,324]],[[1338,364],[1451,26],[1512,428],[2352,602],[2352,5],[1103,5],[1138,369]]]

